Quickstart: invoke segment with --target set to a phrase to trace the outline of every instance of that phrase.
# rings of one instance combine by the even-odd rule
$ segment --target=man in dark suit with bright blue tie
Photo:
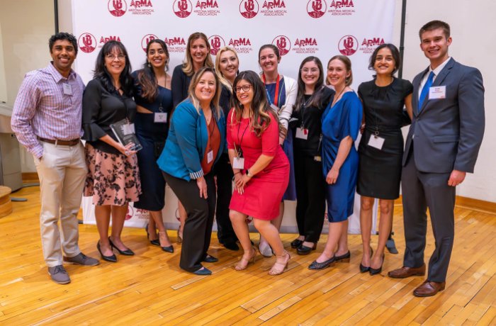
[[[448,55],[450,28],[430,21],[420,28],[430,65],[413,79],[413,119],[403,155],[402,196],[406,249],[403,267],[388,276],[424,276],[427,208],[436,248],[427,279],[415,296],[444,290],[453,249],[456,186],[473,173],[484,135],[484,86],[478,69]]]

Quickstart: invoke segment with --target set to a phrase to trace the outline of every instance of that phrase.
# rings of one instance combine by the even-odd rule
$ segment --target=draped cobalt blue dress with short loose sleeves
[[[342,98],[332,103],[322,114],[322,172],[324,178],[337,157],[339,143],[346,136],[353,141],[359,135],[362,106],[359,97],[353,91],[343,94]],[[335,184],[327,184],[327,218],[329,222],[342,222],[353,214],[356,179],[358,176],[359,154],[354,144],[348,157],[339,169]]]

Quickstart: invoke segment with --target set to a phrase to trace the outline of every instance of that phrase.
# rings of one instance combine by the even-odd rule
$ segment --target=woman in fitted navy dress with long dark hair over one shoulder
[[[147,62],[133,72],[134,97],[137,106],[136,136],[142,145],[137,152],[142,193],[135,208],[150,212],[147,235],[152,245],[164,252],[174,252],[162,220],[165,180],[156,161],[162,152],[172,111],[171,77],[167,74],[169,51],[163,40],[151,40],[147,45]],[[156,228],[159,230],[157,237]]]

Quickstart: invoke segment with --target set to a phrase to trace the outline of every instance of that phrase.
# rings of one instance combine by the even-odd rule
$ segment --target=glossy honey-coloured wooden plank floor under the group
[[[290,269],[269,276],[274,262],[259,256],[246,271],[235,271],[239,253],[223,249],[215,235],[205,264],[213,276],[179,269],[181,247],[167,254],[148,245],[145,231],[127,228],[125,243],[134,257],[99,266],[67,265],[72,283],[50,281],[40,247],[38,187],[13,194],[28,198],[13,203],[0,219],[0,325],[496,325],[496,215],[456,208],[456,242],[446,290],[432,298],[415,298],[421,277],[389,279],[402,265],[401,206],[395,206],[395,240],[400,254],[386,254],[382,275],[359,273],[361,240],[349,237],[351,262],[310,271],[317,251],[292,253]],[[98,257],[96,227],[81,225],[79,245]],[[169,232],[176,240],[176,232]],[[258,240],[252,235],[253,240]],[[373,242],[377,241],[373,237]],[[432,231],[426,253],[433,250]],[[99,258],[99,257],[98,257]],[[428,259],[429,257],[427,257]]]

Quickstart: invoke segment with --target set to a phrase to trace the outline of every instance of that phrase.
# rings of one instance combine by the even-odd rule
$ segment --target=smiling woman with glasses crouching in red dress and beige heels
[[[235,269],[254,262],[255,248],[249,238],[247,216],[276,253],[270,275],[282,274],[290,256],[271,220],[279,215],[279,203],[288,187],[289,162],[279,146],[277,113],[267,104],[264,84],[256,72],[237,75],[232,86],[236,99],[227,116],[227,148],[235,174],[230,218],[244,254]]]

